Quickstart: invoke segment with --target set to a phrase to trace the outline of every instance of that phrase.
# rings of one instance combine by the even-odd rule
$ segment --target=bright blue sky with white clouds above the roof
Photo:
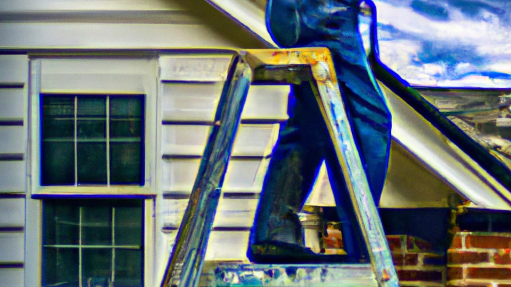
[[[511,87],[511,1],[375,3],[380,59],[411,85]]]

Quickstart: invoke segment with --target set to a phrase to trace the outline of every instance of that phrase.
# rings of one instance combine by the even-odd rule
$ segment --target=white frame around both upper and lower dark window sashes
[[[59,66],[61,65],[61,66]],[[45,75],[42,67],[51,71]],[[52,74],[54,73],[54,74]],[[25,286],[40,286],[42,279],[42,200],[77,197],[130,198],[144,201],[144,286],[159,282],[153,278],[156,196],[156,98],[157,59],[129,56],[34,56],[30,60],[29,143],[27,163]],[[62,80],[59,79],[62,77]],[[144,184],[41,186],[40,94],[145,95],[144,102]]]

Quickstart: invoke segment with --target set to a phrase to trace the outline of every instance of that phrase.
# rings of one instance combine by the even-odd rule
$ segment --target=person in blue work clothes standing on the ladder
[[[369,188],[378,205],[388,165],[390,112],[358,29],[360,0],[269,0],[266,22],[282,47],[328,47]],[[373,5],[371,3],[371,5]],[[374,6],[373,6],[374,7]],[[247,252],[253,262],[360,262],[367,258],[333,143],[309,83],[293,86],[290,119],[273,150]],[[297,213],[326,162],[347,256],[305,248]]]

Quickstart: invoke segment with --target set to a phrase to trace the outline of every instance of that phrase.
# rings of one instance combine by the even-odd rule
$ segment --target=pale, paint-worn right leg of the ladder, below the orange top
[[[353,202],[355,213],[361,226],[362,235],[371,260],[371,265],[376,272],[380,286],[399,286],[396,268],[392,261],[388,242],[383,230],[373,195],[369,189],[365,170],[360,161],[357,146],[354,141],[350,122],[342,98],[339,86],[333,81],[318,85],[318,80],[325,74],[325,66],[311,66],[316,79],[316,100],[323,114],[324,121],[330,131],[330,137],[334,142],[334,149],[339,161],[342,174]],[[332,69],[331,73],[335,73]],[[335,74],[333,75],[335,77]]]

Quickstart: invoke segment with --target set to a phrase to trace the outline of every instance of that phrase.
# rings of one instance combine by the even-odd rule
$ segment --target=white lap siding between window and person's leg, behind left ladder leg
[[[160,58],[160,236],[171,250],[213,125],[230,56]],[[194,68],[203,67],[200,69]],[[251,86],[227,166],[206,260],[246,260],[248,235],[288,86]],[[228,247],[228,248],[226,248]]]

